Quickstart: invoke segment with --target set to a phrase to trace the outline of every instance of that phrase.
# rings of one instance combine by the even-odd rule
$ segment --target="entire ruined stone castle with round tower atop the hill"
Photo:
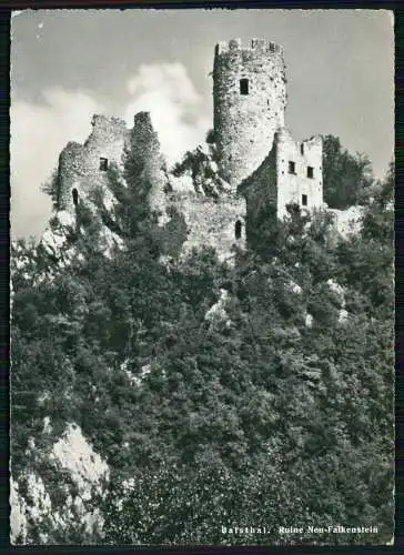
[[[286,99],[282,47],[263,39],[248,47],[239,39],[219,43],[213,137],[225,190],[215,195],[198,188],[175,191],[148,112],[135,114],[131,130],[119,118],[94,115],[85,143],[70,142],[60,154],[57,209],[75,212],[80,198],[108,186],[109,164],[122,169],[130,147],[152,184],[149,203],[162,232],[175,234],[180,215],[186,226],[182,250],[210,245],[221,258],[230,256],[233,245],[248,240],[246,223],[253,225],[262,209],[272,206],[282,219],[289,204],[323,206],[322,140],[293,141],[285,128]]]

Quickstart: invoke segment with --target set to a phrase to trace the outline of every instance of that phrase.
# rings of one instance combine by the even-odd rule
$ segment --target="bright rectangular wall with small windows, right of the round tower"
[[[299,204],[302,209],[323,206],[323,144],[321,137],[313,137],[302,143],[294,142],[286,129],[275,134],[277,174],[277,218],[286,215],[287,204]],[[294,170],[290,168],[294,163]],[[309,176],[311,168],[313,176]],[[304,205],[304,198],[306,205]]]

